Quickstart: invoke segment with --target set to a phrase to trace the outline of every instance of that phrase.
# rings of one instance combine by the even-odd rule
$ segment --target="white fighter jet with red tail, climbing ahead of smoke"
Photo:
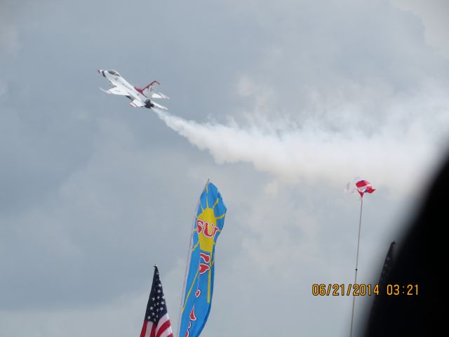
[[[157,104],[156,102],[150,100],[150,98],[168,98],[163,93],[156,92],[157,86],[159,86],[158,81],[152,81],[152,83],[145,86],[145,88],[138,88],[137,86],[132,86],[131,84],[123,79],[118,72],[115,70],[97,70],[103,77],[106,77],[109,82],[114,86],[109,90],[100,88],[105,93],[113,93],[114,95],[123,95],[131,100],[129,103],[132,107],[147,107],[151,109],[152,107],[159,107],[159,109],[167,110],[166,107]]]

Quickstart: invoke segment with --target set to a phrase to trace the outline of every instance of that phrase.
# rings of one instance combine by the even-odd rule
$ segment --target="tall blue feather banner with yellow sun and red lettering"
[[[206,183],[192,228],[185,289],[182,296],[180,337],[197,337],[208,320],[213,293],[215,244],[225,224],[226,206],[213,183]]]

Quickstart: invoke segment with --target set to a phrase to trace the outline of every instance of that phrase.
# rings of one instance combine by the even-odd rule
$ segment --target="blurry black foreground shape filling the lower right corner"
[[[442,310],[445,312],[447,308],[443,300],[447,280],[442,271],[448,265],[447,254],[443,254],[443,247],[448,246],[448,237],[443,235],[449,225],[445,214],[448,197],[449,160],[446,160],[415,220],[398,240],[400,249],[385,280],[387,285],[417,284],[419,292],[407,295],[401,288],[397,296],[388,296],[386,289],[380,289],[382,294],[373,304],[375,308],[363,336],[432,336],[434,329],[445,330],[443,324],[447,319],[443,318]]]

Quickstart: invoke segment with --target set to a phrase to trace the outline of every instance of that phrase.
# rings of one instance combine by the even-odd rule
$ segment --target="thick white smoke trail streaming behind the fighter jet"
[[[375,187],[413,190],[429,169],[434,169],[441,148],[422,119],[409,120],[404,126],[398,125],[403,120],[397,118],[367,136],[354,129],[335,132],[310,125],[279,134],[235,124],[199,124],[160,110],[156,113],[190,143],[208,150],[217,163],[251,163],[255,169],[289,183],[326,180],[343,187],[358,175],[371,180]],[[447,113],[434,117],[449,125]]]

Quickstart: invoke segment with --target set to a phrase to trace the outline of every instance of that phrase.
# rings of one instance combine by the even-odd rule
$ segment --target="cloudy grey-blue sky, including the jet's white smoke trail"
[[[228,208],[203,336],[346,336],[449,130],[448,1],[0,2],[0,336],[177,325],[207,178]],[[161,81],[164,120],[96,69]],[[169,126],[169,127],[167,127]],[[360,324],[370,298],[360,298]],[[281,328],[280,328],[281,326]]]

